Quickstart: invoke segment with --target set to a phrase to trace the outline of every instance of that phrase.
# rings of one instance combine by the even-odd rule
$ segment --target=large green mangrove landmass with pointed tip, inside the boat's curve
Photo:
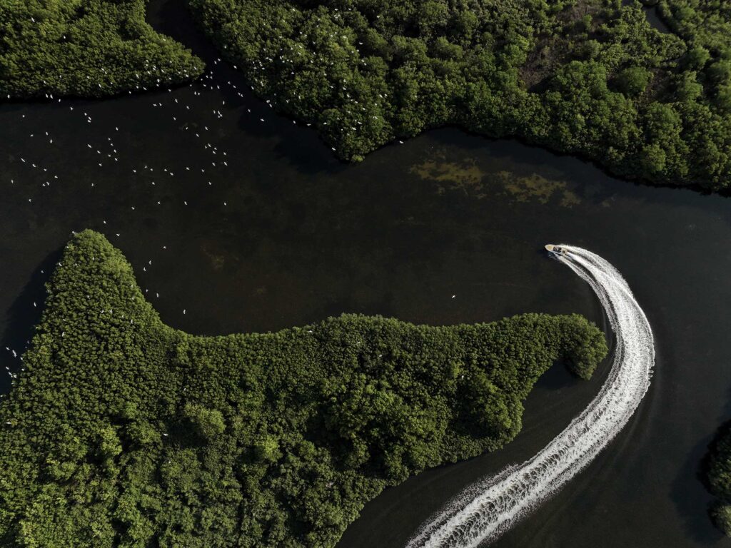
[[[553,362],[606,353],[577,315],[189,335],[85,231],[0,400],[0,544],[332,547],[387,485],[510,441]]]

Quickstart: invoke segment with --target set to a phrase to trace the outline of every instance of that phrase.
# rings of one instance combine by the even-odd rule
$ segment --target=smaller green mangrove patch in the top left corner
[[[145,4],[0,1],[2,98],[99,97],[200,76],[199,58],[145,22]]]

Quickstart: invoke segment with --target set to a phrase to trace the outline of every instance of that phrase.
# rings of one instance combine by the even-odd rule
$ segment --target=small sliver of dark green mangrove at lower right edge
[[[731,536],[731,425],[721,427],[720,435],[708,453],[706,480],[718,499],[711,506],[713,522]]]

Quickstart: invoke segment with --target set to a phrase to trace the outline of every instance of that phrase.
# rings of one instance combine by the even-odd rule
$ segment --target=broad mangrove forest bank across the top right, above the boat
[[[731,180],[724,2],[662,0],[673,32],[621,0],[190,4],[256,93],[343,159],[457,124],[627,177],[713,190]]]

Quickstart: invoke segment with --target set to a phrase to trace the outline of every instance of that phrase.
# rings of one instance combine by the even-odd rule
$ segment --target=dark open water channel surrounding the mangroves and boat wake
[[[154,23],[213,60],[175,4],[152,10]],[[4,347],[23,349],[72,230],[104,232],[162,319],[201,334],[278,330],[341,312],[429,324],[578,312],[602,323],[588,286],[542,252],[548,242],[572,243],[629,281],[654,327],[656,376],[619,438],[495,545],[721,542],[696,474],[716,427],[731,418],[727,199],[635,186],[577,159],[456,129],[344,165],[310,129],[238,97],[246,85],[232,69],[214,72],[205,80],[213,90],[0,106],[1,366],[18,368]],[[602,373],[580,382],[551,371],[515,442],[385,491],[339,546],[403,546],[461,487],[560,432]]]

